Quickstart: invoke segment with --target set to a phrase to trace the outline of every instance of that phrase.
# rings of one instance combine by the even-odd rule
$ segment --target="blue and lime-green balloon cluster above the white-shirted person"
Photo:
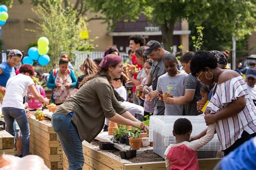
[[[31,47],[28,51],[28,55],[23,58],[23,64],[33,65],[33,60],[37,60],[37,62],[44,66],[50,63],[50,57],[46,55],[49,51],[49,40],[46,37],[41,37],[37,41],[37,47]]]

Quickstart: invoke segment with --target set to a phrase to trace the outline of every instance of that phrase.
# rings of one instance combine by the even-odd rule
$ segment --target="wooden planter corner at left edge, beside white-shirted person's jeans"
[[[15,139],[10,133],[6,132],[5,130],[0,131],[0,155],[3,153],[14,155],[14,144]]]

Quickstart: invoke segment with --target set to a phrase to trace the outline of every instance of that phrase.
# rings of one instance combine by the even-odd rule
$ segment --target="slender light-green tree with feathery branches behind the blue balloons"
[[[75,50],[80,48],[79,30],[83,27],[83,17],[77,21],[76,10],[72,8],[62,8],[62,1],[54,1],[49,4],[46,11],[43,6],[38,5],[36,10],[33,10],[38,16],[38,21],[29,19],[38,25],[38,30],[30,30],[37,33],[38,37],[45,36],[49,39],[49,56],[51,63],[49,69],[58,66],[59,56],[65,52],[73,57]],[[86,44],[87,50],[93,50],[90,43]],[[86,50],[86,49],[85,49]]]

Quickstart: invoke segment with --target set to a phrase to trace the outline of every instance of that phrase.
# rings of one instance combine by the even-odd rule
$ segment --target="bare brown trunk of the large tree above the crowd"
[[[174,30],[175,22],[165,22],[165,24],[161,25],[162,39],[164,48],[167,51],[171,51],[170,47],[173,45],[173,30]]]

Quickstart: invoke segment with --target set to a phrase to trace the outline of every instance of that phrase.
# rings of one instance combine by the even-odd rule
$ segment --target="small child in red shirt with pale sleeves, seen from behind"
[[[199,169],[197,150],[206,145],[214,137],[215,124],[207,128],[204,137],[191,141],[192,124],[186,118],[177,119],[173,125],[176,144],[170,144],[164,153],[165,165],[169,169]]]

